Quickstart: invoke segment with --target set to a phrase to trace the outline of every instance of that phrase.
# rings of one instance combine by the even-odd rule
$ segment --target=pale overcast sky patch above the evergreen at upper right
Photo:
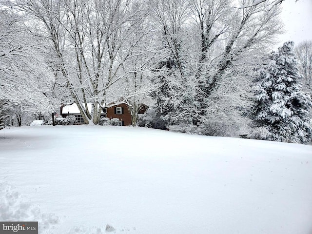
[[[281,16],[287,31],[279,37],[277,46],[287,40],[293,40],[295,45],[303,40],[312,40],[312,0],[284,0]]]

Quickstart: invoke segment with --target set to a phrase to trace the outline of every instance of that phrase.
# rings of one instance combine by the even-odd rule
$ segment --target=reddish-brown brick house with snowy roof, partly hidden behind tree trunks
[[[112,105],[110,103],[109,105]],[[88,110],[92,110],[92,104],[88,103],[87,104]],[[145,111],[149,107],[145,104],[140,105],[139,109],[139,114],[144,114]],[[71,105],[66,105],[62,106],[60,113],[62,117],[66,117],[69,115],[75,116],[76,117],[76,123],[75,124],[83,124],[83,118],[79,112],[78,106],[76,103],[73,103]],[[108,108],[102,108],[101,111],[101,117],[108,117],[109,119],[112,118],[118,118],[120,120],[120,125],[121,126],[129,126],[132,125],[132,120],[131,120],[131,113],[129,110],[129,105],[125,103],[117,104]]]

